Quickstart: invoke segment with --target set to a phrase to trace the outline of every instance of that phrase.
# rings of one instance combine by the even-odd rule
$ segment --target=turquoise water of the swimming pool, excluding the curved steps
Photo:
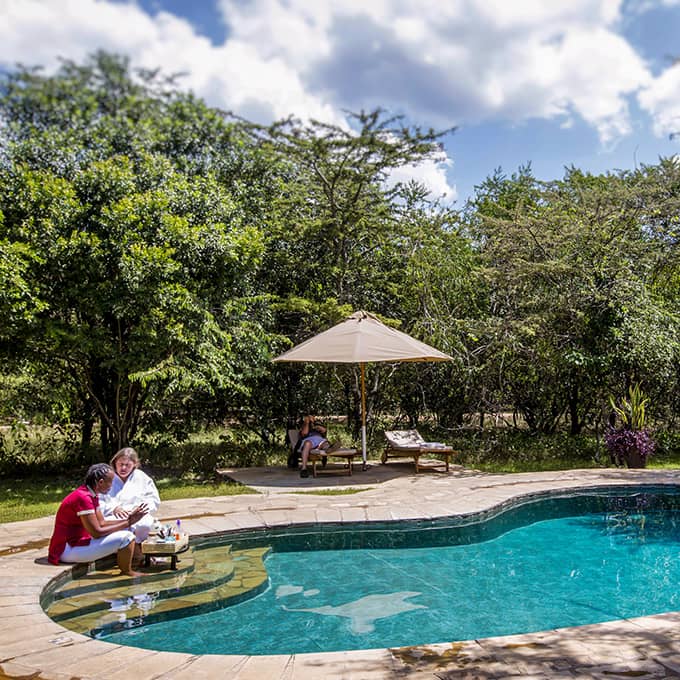
[[[261,595],[104,639],[194,654],[289,654],[446,642],[678,610],[680,509],[672,498],[663,507],[649,495],[633,503],[608,498],[598,512],[582,512],[582,498],[545,500],[515,511],[510,524],[523,526],[480,542],[469,536],[478,536],[482,524],[498,533],[512,513],[484,519],[467,533],[465,527],[451,531],[455,545],[273,552],[265,563],[270,586]],[[570,515],[573,509],[578,514]],[[542,513],[560,516],[541,520]]]

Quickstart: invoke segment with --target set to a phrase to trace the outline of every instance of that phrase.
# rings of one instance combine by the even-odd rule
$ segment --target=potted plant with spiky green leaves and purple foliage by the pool
[[[609,457],[615,465],[643,468],[647,465],[647,457],[656,448],[654,439],[645,428],[645,411],[649,399],[645,397],[640,385],[631,385],[628,397],[623,399],[621,406],[616,405],[613,397],[609,398],[614,413],[621,421],[621,427],[610,428],[605,433],[604,440]]]

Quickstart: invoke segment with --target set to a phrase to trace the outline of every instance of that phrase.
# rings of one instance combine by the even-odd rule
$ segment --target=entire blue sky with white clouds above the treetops
[[[496,169],[680,150],[680,0],[0,0],[0,68],[95,50],[259,123],[381,107],[455,132],[400,178],[457,207]]]

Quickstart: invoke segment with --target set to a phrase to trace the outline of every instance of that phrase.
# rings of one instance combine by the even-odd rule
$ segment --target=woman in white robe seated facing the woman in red
[[[99,496],[99,505],[104,518],[115,517],[125,519],[140,503],[149,509],[148,514],[133,524],[130,529],[135,534],[138,554],[141,554],[139,544],[149,536],[161,504],[158,489],[153,479],[139,469],[139,456],[130,447],[121,449],[111,459],[111,467],[115,471],[113,484],[108,494]]]

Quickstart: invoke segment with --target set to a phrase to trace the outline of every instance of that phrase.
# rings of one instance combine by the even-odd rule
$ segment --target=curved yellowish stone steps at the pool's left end
[[[69,584],[74,593],[55,599],[47,613],[62,626],[96,636],[199,612],[221,609],[249,599],[269,583],[264,558],[270,548],[231,551],[231,546],[193,550],[193,568],[167,572],[132,583],[125,577]],[[184,561],[189,562],[188,558]],[[158,575],[160,576],[160,575]],[[85,588],[87,588],[85,590]],[[63,593],[64,589],[60,591]]]

